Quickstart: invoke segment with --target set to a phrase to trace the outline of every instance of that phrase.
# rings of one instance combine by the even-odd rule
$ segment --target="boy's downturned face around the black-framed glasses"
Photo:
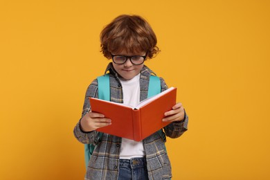
[[[133,55],[145,55],[146,53],[138,53],[138,54],[130,54],[126,53],[125,51],[122,51],[118,53],[117,55],[126,55],[126,56],[133,56]],[[125,80],[131,80],[134,78],[136,75],[138,75],[141,72],[141,69],[143,69],[143,64],[140,65],[135,65],[132,64],[130,59],[128,59],[124,64],[116,64],[114,61],[112,62],[114,69],[120,75],[122,78]]]

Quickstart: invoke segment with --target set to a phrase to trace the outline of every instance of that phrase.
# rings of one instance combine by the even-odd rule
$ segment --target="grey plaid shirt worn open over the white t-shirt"
[[[123,103],[123,91],[118,74],[114,70],[112,64],[107,66],[105,73],[110,73],[110,93],[111,101]],[[140,76],[140,100],[147,98],[148,84],[150,75],[153,72],[143,66]],[[168,89],[163,78],[161,79],[161,91]],[[89,103],[89,97],[98,98],[98,82],[93,80],[87,89],[87,93],[84,100],[84,107],[82,111],[82,117],[91,110]],[[166,136],[170,138],[177,138],[186,132],[188,125],[188,116],[185,115],[184,120],[181,122],[173,122],[163,128]],[[80,121],[74,128],[75,138],[84,144],[96,144],[98,139],[98,132],[83,132],[80,128]],[[89,161],[87,168],[87,174],[85,179],[118,179],[119,168],[119,153],[122,138],[118,136],[112,136],[109,134],[103,134],[102,140],[96,145],[95,150]],[[172,177],[172,170],[170,160],[165,151],[165,142],[159,133],[148,136],[143,140],[143,146],[145,148],[147,171],[149,179],[170,179]]]

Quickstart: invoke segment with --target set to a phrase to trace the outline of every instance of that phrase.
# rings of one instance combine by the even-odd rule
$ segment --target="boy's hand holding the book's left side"
[[[109,118],[105,118],[103,114],[91,111],[85,114],[80,120],[80,126],[84,132],[91,132],[107,125],[111,125],[111,120]]]

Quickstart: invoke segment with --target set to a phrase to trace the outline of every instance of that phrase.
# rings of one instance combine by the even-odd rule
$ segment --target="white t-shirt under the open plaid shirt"
[[[140,102],[140,74],[136,75],[131,80],[120,78],[123,87],[123,101],[125,105],[135,107]],[[143,142],[133,141],[127,138],[122,138],[120,148],[120,159],[131,159],[134,157],[145,156]]]

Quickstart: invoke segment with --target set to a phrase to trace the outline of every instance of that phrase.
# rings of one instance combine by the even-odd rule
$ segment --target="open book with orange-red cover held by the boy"
[[[98,132],[141,141],[170,124],[163,122],[164,113],[176,104],[177,88],[171,87],[156,96],[130,107],[116,102],[90,98],[91,111],[104,114],[111,125],[98,128]]]

